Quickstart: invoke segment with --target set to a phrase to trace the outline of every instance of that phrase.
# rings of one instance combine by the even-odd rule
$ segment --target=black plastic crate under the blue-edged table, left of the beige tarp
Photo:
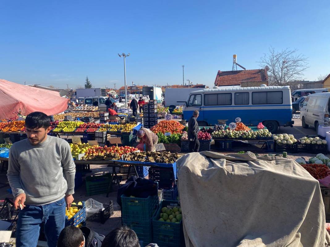
[[[150,167],[149,179],[158,182],[158,188],[173,189],[175,184],[173,168]]]

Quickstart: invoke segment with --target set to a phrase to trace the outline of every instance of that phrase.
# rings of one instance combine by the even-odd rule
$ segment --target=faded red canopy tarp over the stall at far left
[[[68,99],[58,92],[29,87],[0,79],[0,119],[12,118],[31,112],[44,112],[48,116],[63,112],[68,107]]]

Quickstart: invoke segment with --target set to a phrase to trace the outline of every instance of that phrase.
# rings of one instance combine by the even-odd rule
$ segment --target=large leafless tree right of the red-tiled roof
[[[297,51],[289,48],[275,51],[274,47],[269,47],[269,54],[264,54],[259,61],[261,67],[269,67],[269,85],[286,86],[302,79],[303,72],[309,68],[308,60],[303,54],[297,54]]]

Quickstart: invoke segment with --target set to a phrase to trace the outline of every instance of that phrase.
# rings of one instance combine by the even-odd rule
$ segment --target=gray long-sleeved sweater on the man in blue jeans
[[[45,205],[73,194],[75,163],[69,143],[47,136],[33,146],[28,139],[10,149],[7,177],[16,197],[25,193],[27,205]]]

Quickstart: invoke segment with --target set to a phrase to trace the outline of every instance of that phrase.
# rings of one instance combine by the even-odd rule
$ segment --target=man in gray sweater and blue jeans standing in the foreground
[[[49,247],[56,247],[65,225],[65,207],[73,202],[75,164],[69,144],[47,135],[49,117],[32,112],[25,119],[28,139],[10,149],[7,177],[12,188],[17,220],[16,246],[37,246],[44,223]]]

